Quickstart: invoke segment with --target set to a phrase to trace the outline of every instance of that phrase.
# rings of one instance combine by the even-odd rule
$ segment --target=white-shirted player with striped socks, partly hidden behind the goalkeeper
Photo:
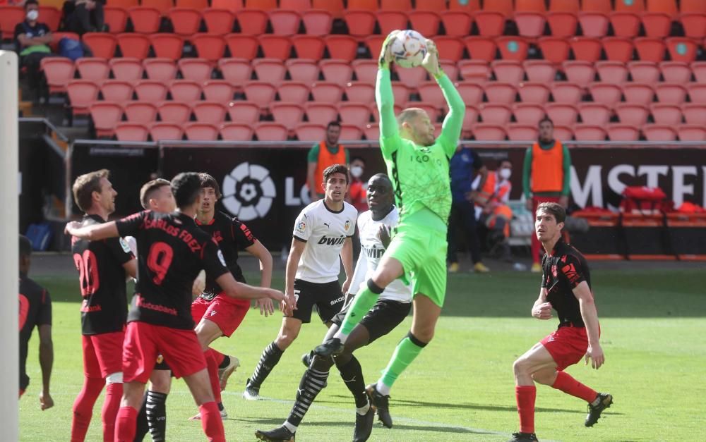
[[[347,299],[346,307],[333,317],[334,325],[326,333],[324,342],[338,330],[345,318],[352,296],[357,293],[361,284],[369,280],[377,268],[385,248],[390,243],[390,228],[396,226],[399,219],[397,207],[393,205],[393,197],[393,187],[388,176],[378,173],[370,178],[367,195],[370,210],[362,213],[358,218],[361,252],[351,285],[352,295]],[[301,424],[301,419],[304,418],[306,410],[309,410],[316,395],[325,386],[329,369],[335,363],[356,403],[356,425],[353,441],[366,441],[373,429],[375,411],[370,407],[365,393],[365,382],[360,363],[352,353],[395,329],[409,314],[412,307],[411,302],[412,287],[405,286],[398,279],[385,288],[378,298],[378,302],[355,326],[340,355],[333,357],[333,359],[321,356],[312,357],[311,354],[304,355],[302,361],[308,368],[304,372],[304,376],[301,376],[297,400],[287,421],[282,426],[270,431],[258,430],[255,436],[262,441],[294,441],[294,433]]]

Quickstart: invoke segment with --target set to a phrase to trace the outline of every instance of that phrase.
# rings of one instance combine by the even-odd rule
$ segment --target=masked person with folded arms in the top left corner
[[[52,32],[44,23],[40,23],[40,5],[37,0],[25,1],[25,20],[15,27],[15,42],[20,54],[20,66],[27,69],[30,89],[40,92],[40,62],[44,57],[54,56],[49,43],[52,42]]]

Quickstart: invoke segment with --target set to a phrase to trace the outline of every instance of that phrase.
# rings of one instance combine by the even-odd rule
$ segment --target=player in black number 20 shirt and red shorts
[[[115,211],[118,194],[105,169],[76,178],[73,197],[85,216],[81,226],[105,223]],[[71,253],[78,270],[83,343],[83,388],[73,403],[71,441],[83,441],[93,405],[103,386],[101,410],[103,438],[113,440],[115,418],[123,395],[122,348],[127,317],[126,274],[136,276],[136,259],[121,238],[89,242],[71,238]]]

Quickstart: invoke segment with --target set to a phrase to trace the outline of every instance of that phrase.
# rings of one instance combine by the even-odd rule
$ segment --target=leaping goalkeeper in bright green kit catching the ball
[[[380,54],[376,102],[380,111],[380,147],[393,182],[400,223],[393,230],[392,241],[376,273],[352,301],[340,331],[314,350],[320,356],[342,352],[348,333],[389,283],[402,278],[413,284],[412,329],[397,345],[382,377],[366,388],[373,407],[388,428],[392,426],[388,410],[390,388],[433,338],[443,306],[446,223],[451,208],[449,160],[456,151],[465,113],[465,104],[441,69],[436,46],[427,39],[427,54],[421,66],[438,82],[449,107],[441,135],[434,140],[434,126],[423,109],[408,108],[395,118],[390,83],[393,56],[388,44],[395,32],[385,39]]]

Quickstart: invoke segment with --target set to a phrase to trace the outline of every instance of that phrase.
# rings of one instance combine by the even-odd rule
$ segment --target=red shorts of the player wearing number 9
[[[147,383],[159,355],[169,361],[169,368],[177,378],[206,368],[201,345],[193,330],[140,321],[128,323],[123,347],[123,381]]]

